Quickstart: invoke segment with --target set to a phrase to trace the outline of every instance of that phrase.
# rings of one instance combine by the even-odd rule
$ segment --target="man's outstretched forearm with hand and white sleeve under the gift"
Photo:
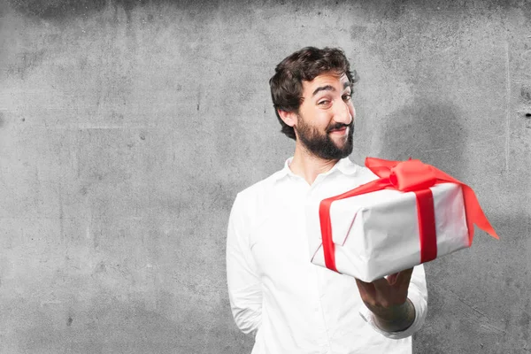
[[[371,283],[356,280],[359,294],[372,312],[368,319],[389,338],[412,335],[424,323],[427,286],[424,266],[416,266]]]

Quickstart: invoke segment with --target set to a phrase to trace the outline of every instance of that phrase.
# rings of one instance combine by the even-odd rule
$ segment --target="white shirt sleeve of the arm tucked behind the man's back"
[[[250,253],[249,219],[240,195],[236,196],[227,228],[227,285],[230,307],[245,334],[255,334],[262,319],[262,286]]]

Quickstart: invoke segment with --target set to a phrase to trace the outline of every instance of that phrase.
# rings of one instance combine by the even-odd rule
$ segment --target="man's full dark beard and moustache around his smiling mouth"
[[[342,148],[335,145],[335,142],[330,138],[329,133],[332,130],[348,127],[347,140]],[[352,135],[354,134],[354,119],[349,125],[335,123],[328,126],[324,135],[319,134],[315,127],[306,124],[304,119],[299,115],[298,127],[296,127],[297,138],[301,140],[304,147],[318,158],[327,160],[335,160],[346,158],[352,152]]]

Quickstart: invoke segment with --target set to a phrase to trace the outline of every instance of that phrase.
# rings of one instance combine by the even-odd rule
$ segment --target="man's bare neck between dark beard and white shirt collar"
[[[334,167],[337,161],[318,158],[306,150],[304,146],[296,143],[295,154],[293,155],[291,164],[289,164],[289,169],[292,173],[303,177],[309,185],[312,185],[320,173],[328,172]]]

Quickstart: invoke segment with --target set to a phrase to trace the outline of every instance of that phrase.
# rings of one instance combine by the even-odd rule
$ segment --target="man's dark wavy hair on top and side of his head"
[[[281,132],[296,140],[295,130],[281,119],[278,110],[297,112],[302,103],[303,81],[312,81],[321,73],[333,72],[347,75],[350,84],[356,79],[356,71],[350,72],[349,60],[339,48],[305,47],[281,61],[269,80],[274,112],[281,122]]]

